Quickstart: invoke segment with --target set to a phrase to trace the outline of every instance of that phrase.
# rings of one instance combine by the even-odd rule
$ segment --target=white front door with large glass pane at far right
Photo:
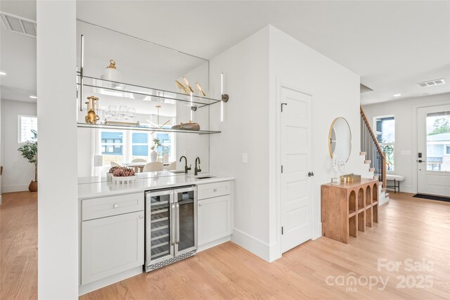
[[[417,192],[450,197],[450,105],[417,110]]]

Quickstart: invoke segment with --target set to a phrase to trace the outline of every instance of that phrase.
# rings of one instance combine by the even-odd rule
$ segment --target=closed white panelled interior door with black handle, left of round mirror
[[[281,88],[281,252],[312,237],[312,97]]]

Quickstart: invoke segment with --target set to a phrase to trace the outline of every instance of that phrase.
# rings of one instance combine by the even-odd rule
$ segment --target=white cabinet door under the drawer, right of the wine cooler
[[[198,200],[198,244],[231,235],[231,195]]]

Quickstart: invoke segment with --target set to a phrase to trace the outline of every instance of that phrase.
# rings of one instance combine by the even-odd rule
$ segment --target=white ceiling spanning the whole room
[[[0,5],[35,19],[32,1]],[[359,74],[373,89],[363,104],[450,91],[450,1],[77,1],[77,18],[207,59],[271,24]],[[35,69],[23,69],[32,38],[4,32],[0,70],[21,74],[1,78],[2,98],[6,86],[35,89]],[[439,78],[447,83],[415,85]]]

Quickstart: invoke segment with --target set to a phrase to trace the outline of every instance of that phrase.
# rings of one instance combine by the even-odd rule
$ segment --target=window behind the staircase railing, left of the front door
[[[375,133],[381,150],[386,155],[387,171],[394,171],[395,118],[375,117]]]

